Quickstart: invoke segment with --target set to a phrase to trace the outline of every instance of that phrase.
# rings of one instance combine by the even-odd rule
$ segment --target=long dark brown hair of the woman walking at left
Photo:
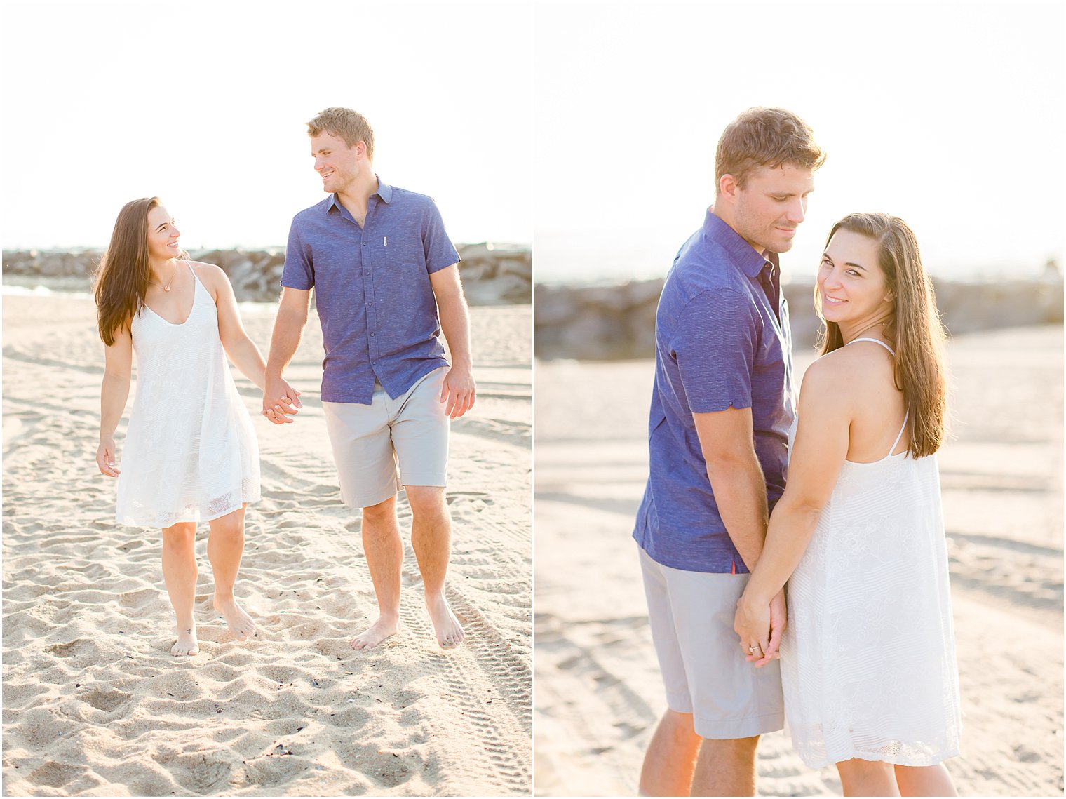
[[[159,197],[132,199],[118,211],[108,250],[93,274],[97,326],[108,347],[144,307],[151,277],[148,261],[148,212],[162,205]],[[184,255],[184,253],[180,253]]]

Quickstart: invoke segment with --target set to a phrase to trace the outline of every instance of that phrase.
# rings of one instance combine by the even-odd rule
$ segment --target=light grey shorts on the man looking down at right
[[[733,632],[750,575],[685,572],[641,549],[651,640],[672,710],[702,738],[748,738],[785,726],[780,662],[756,669]]]

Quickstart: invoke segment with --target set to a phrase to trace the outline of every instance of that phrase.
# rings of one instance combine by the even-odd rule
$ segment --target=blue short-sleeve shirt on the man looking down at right
[[[776,269],[775,254],[766,260],[708,211],[666,276],[656,313],[650,472],[633,530],[664,565],[748,571],[714,501],[694,413],[750,408],[771,509],[785,491],[795,409],[788,305]]]

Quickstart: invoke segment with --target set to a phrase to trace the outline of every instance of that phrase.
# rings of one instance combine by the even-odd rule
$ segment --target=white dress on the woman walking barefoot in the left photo
[[[119,464],[119,524],[206,522],[259,499],[252,418],[229,372],[214,300],[195,272],[193,279],[183,323],[147,305],[132,320],[138,380]]]

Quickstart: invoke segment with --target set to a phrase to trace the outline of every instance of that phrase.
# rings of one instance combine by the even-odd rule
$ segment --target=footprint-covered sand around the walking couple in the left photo
[[[273,311],[242,308],[264,353]],[[401,501],[403,628],[349,646],[376,604],[337,489],[312,314],[287,372],[303,393],[295,424],[268,424],[233,370],[262,460],[237,585],[258,634],[231,640],[211,608],[205,524],[200,654],[175,658],[160,533],[114,524],[115,485],[94,461],[93,303],[3,298],[5,795],[529,794],[530,306],[471,316],[479,398],[453,424],[449,485],[464,645],[436,645]]]

